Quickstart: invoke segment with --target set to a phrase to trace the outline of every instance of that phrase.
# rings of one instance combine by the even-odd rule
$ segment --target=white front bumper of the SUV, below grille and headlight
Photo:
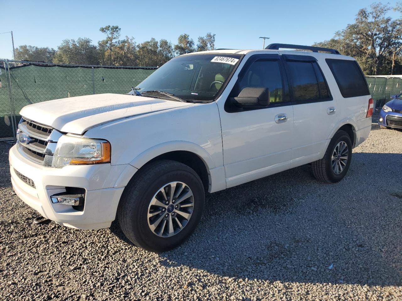
[[[26,159],[16,145],[10,149],[9,161],[15,193],[43,217],[78,229],[108,228],[115,220],[117,205],[124,189],[117,182],[127,165],[105,163],[44,167]],[[31,179],[35,185],[23,181],[16,171]],[[83,211],[51,202],[50,196],[65,192],[66,187],[86,190]]]

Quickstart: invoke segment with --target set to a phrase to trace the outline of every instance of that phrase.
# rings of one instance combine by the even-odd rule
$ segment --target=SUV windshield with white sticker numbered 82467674
[[[226,83],[240,57],[215,53],[175,57],[148,76],[137,88],[141,93],[161,91],[184,100],[210,101]]]

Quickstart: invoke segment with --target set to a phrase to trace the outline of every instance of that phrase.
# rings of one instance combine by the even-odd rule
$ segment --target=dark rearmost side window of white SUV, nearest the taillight
[[[326,59],[344,98],[370,95],[363,72],[356,61]]]

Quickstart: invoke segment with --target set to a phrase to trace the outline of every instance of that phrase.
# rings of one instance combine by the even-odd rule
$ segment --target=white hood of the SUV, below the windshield
[[[109,121],[189,105],[191,103],[127,94],[95,94],[30,104],[20,114],[61,132],[83,134]]]

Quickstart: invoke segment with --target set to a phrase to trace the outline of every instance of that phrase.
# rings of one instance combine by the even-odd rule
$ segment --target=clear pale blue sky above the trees
[[[387,1],[395,6],[396,0]],[[387,3],[383,1],[382,3]],[[0,33],[13,31],[14,46],[57,46],[64,39],[86,37],[95,45],[105,35],[99,28],[118,25],[121,37],[137,43],[154,37],[173,44],[187,33],[215,33],[215,48],[258,49],[269,43],[311,45],[328,40],[353,23],[369,0],[202,0],[202,1],[42,1],[0,0]],[[393,18],[396,12],[389,14]],[[0,58],[12,59],[11,35],[0,34]]]

